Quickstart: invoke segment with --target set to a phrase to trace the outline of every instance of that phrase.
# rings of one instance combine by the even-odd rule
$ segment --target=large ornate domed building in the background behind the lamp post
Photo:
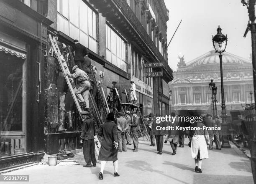
[[[230,110],[243,109],[242,105],[254,102],[252,63],[231,53],[223,53],[223,81],[225,106]],[[197,110],[212,114],[211,79],[218,87],[217,110],[221,113],[220,58],[215,50],[186,63],[179,56],[178,69],[170,83],[172,90],[172,110],[182,114],[182,110]]]

